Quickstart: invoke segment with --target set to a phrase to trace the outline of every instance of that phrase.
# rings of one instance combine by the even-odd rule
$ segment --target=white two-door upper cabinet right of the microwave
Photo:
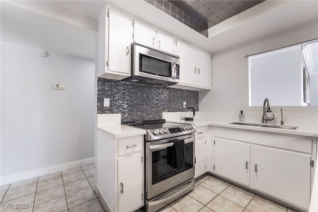
[[[176,53],[180,56],[180,81],[173,87],[211,89],[211,55],[181,40],[177,41]]]

